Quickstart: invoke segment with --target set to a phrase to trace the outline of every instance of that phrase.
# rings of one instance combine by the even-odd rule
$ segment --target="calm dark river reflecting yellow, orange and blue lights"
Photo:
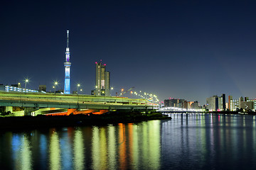
[[[0,169],[256,169],[253,115],[0,132]]]

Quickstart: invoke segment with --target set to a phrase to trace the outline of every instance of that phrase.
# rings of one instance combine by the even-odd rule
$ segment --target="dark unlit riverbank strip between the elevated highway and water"
[[[56,115],[56,116],[21,116],[0,118],[0,130],[19,128],[57,128],[84,125],[107,125],[118,123],[139,123],[147,120],[171,119],[161,113],[118,113],[110,112],[102,115]]]

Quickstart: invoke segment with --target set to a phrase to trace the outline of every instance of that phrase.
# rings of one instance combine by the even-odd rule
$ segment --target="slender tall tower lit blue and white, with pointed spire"
[[[65,85],[64,85],[64,94],[70,94],[70,52],[69,52],[69,47],[68,47],[68,33],[69,30],[67,30],[67,47],[66,47],[66,52],[65,52]]]

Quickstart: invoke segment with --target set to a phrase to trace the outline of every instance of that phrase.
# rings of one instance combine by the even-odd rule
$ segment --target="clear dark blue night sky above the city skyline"
[[[206,103],[256,97],[256,1],[10,1],[0,4],[0,84],[64,89],[70,30],[71,91],[95,86],[95,62],[116,91]]]

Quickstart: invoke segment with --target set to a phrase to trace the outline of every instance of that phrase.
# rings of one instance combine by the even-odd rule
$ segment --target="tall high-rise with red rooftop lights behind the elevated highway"
[[[110,72],[106,72],[106,64],[95,62],[96,64],[96,81],[95,91],[96,96],[110,96]]]

